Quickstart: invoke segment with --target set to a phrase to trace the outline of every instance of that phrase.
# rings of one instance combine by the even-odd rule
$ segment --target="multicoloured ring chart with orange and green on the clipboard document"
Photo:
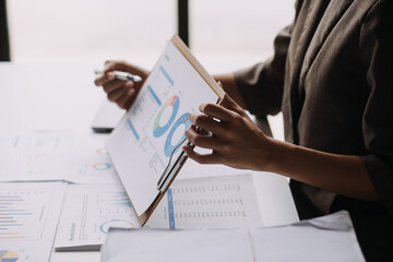
[[[176,115],[179,111],[179,105],[180,105],[180,99],[178,96],[175,95],[175,96],[170,97],[167,100],[167,103],[162,107],[162,109],[158,111],[157,117],[153,124],[153,135],[155,138],[162,136],[170,128],[170,126],[175,121]],[[170,108],[171,108],[170,118],[164,126],[160,126],[159,121],[160,121],[163,115],[165,114],[166,110],[170,110]]]

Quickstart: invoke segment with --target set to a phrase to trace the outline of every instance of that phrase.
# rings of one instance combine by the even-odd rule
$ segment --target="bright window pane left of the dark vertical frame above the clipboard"
[[[8,1],[12,60],[155,60],[176,33],[176,0]]]

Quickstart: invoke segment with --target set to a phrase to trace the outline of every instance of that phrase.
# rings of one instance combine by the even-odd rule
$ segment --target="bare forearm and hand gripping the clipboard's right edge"
[[[225,78],[217,80],[226,81]],[[230,81],[234,80],[229,78]],[[238,90],[228,90],[228,86],[225,91],[233,98],[240,97]],[[360,156],[330,154],[270,139],[230,98],[222,105],[201,105],[200,110],[202,115],[190,115],[193,126],[186,135],[192,144],[210,148],[212,153],[200,154],[183,146],[187,155],[198,163],[272,171],[342,195],[379,199]],[[213,135],[198,133],[195,126]]]

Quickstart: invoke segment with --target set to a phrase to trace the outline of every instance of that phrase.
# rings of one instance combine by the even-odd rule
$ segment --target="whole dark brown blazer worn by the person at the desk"
[[[362,157],[381,201],[293,182],[302,194],[295,200],[309,201],[313,215],[345,209],[354,224],[378,214],[393,228],[392,7],[392,0],[298,0],[273,58],[235,73],[251,114],[283,111],[287,142]],[[313,216],[307,209],[299,214]]]

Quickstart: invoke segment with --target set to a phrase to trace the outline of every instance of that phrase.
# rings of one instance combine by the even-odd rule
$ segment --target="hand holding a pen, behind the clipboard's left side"
[[[132,81],[118,80],[115,79],[112,71],[136,74],[142,78],[142,81],[134,83]],[[98,76],[94,83],[96,86],[103,86],[110,102],[116,103],[122,109],[129,109],[135,100],[148,73],[147,70],[138,68],[124,61],[106,61],[104,74]]]

